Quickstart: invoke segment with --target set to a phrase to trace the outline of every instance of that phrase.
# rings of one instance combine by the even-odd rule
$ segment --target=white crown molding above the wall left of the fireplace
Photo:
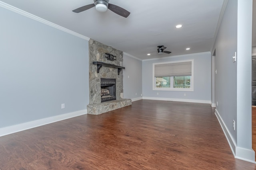
[[[90,38],[88,38],[88,37],[86,37],[86,36],[84,36],[84,35],[81,35],[81,34],[79,34],[79,33],[76,33],[76,32],[74,32],[74,31],[71,31],[71,30],[69,30],[69,29],[66,29],[66,28],[64,28],[64,27],[62,27],[62,26],[60,26],[60,25],[57,25],[57,24],[55,24],[55,23],[52,23],[52,22],[50,22],[50,21],[44,20],[44,19],[42,19],[42,18],[40,18],[40,17],[38,17],[38,16],[35,16],[35,15],[33,15],[33,14],[30,14],[30,13],[28,13],[28,12],[26,12],[26,11],[20,10],[20,9],[18,9],[18,8],[14,7],[14,6],[11,6],[11,5],[9,5],[9,4],[6,4],[6,3],[4,3],[4,2],[2,2],[2,1],[0,1],[0,7],[5,8],[5,9],[7,9],[7,10],[10,10],[10,11],[12,11],[12,12],[16,12],[17,14],[20,14],[20,15],[22,15],[22,16],[31,18],[32,20],[35,20],[35,21],[44,23],[44,24],[46,24],[46,25],[49,25],[49,26],[51,26],[51,27],[54,27],[54,28],[59,29],[59,30],[61,30],[61,31],[64,31],[64,32],[66,32],[66,33],[69,33],[69,34],[71,34],[71,35],[74,35],[74,36],[76,36],[76,37],[80,37],[80,38],[85,39],[85,40],[87,40],[87,41],[90,40]]]

